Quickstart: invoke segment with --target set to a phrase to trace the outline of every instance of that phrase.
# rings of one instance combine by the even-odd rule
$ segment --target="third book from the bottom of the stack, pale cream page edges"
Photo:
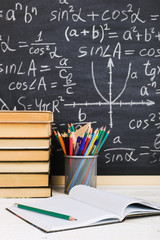
[[[50,162],[0,162],[0,173],[49,173]]]

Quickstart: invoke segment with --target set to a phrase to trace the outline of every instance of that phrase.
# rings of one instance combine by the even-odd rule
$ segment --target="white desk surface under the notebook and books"
[[[160,186],[99,186],[115,193],[160,202]],[[63,188],[53,191],[53,197],[63,194]],[[0,239],[2,240],[159,240],[160,216],[127,219],[92,228],[58,233],[43,233],[5,210],[15,202],[27,204],[37,199],[0,199]]]

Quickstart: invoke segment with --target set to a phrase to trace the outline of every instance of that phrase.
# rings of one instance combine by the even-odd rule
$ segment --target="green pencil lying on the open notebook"
[[[56,218],[62,218],[62,219],[69,220],[69,221],[76,220],[75,218],[73,218],[71,216],[61,214],[61,213],[47,211],[47,210],[40,209],[40,208],[30,207],[30,206],[26,206],[26,205],[22,205],[22,204],[18,204],[18,203],[15,203],[15,206],[18,207],[18,208],[24,209],[24,210],[28,210],[28,211],[32,211],[32,212],[36,212],[36,213],[41,213],[41,214],[56,217]]]

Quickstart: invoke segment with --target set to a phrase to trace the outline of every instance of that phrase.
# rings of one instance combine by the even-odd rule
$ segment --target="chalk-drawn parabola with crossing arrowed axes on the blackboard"
[[[108,98],[104,97],[103,94],[100,92],[100,90],[98,89],[97,87],[97,84],[96,84],[96,79],[95,79],[95,73],[94,73],[94,62],[92,61],[91,62],[91,76],[92,76],[92,81],[93,81],[93,85],[95,87],[95,90],[96,92],[98,93],[98,95],[101,97],[101,99],[103,101],[98,101],[98,102],[73,102],[73,103],[66,103],[64,104],[64,106],[66,107],[76,107],[76,106],[109,106],[109,111],[108,111],[108,114],[109,114],[109,120],[110,120],[110,128],[113,127],[113,106],[115,105],[118,105],[118,106],[124,106],[124,105],[128,105],[128,106],[134,106],[134,105],[145,105],[145,106],[151,106],[153,104],[155,104],[155,102],[147,99],[146,101],[144,100],[141,100],[141,101],[129,101],[129,102],[126,102],[126,101],[121,101],[119,100],[119,98],[123,95],[126,87],[127,87],[127,83],[128,83],[128,80],[129,80],[129,77],[130,77],[130,72],[131,72],[131,67],[132,67],[132,63],[129,63],[129,67],[128,67],[128,74],[127,74],[127,77],[125,79],[125,83],[124,83],[124,86],[121,90],[121,92],[119,93],[119,95],[113,99],[113,96],[112,96],[112,92],[113,92],[113,85],[114,85],[114,81],[113,81],[113,68],[114,68],[114,64],[113,64],[113,61],[112,59],[110,58],[109,61],[108,61],[108,65],[107,65],[107,68],[109,69],[108,71],[108,74],[109,74],[109,81],[108,81]]]

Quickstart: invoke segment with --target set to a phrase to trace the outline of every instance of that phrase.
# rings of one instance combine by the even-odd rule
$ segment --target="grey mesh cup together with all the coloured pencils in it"
[[[95,186],[97,154],[109,136],[110,130],[106,134],[105,132],[106,127],[96,128],[93,131],[91,123],[87,123],[83,127],[80,126],[78,130],[73,124],[68,124],[69,151],[67,151],[68,146],[64,146],[62,141],[60,142],[60,138],[57,137],[60,133],[54,131],[65,154],[65,176],[67,176],[65,177],[66,193],[77,184]],[[61,134],[61,137],[62,136]],[[69,156],[66,155],[66,152],[69,152]],[[87,156],[93,157],[87,158]],[[68,160],[69,167],[67,166]]]

